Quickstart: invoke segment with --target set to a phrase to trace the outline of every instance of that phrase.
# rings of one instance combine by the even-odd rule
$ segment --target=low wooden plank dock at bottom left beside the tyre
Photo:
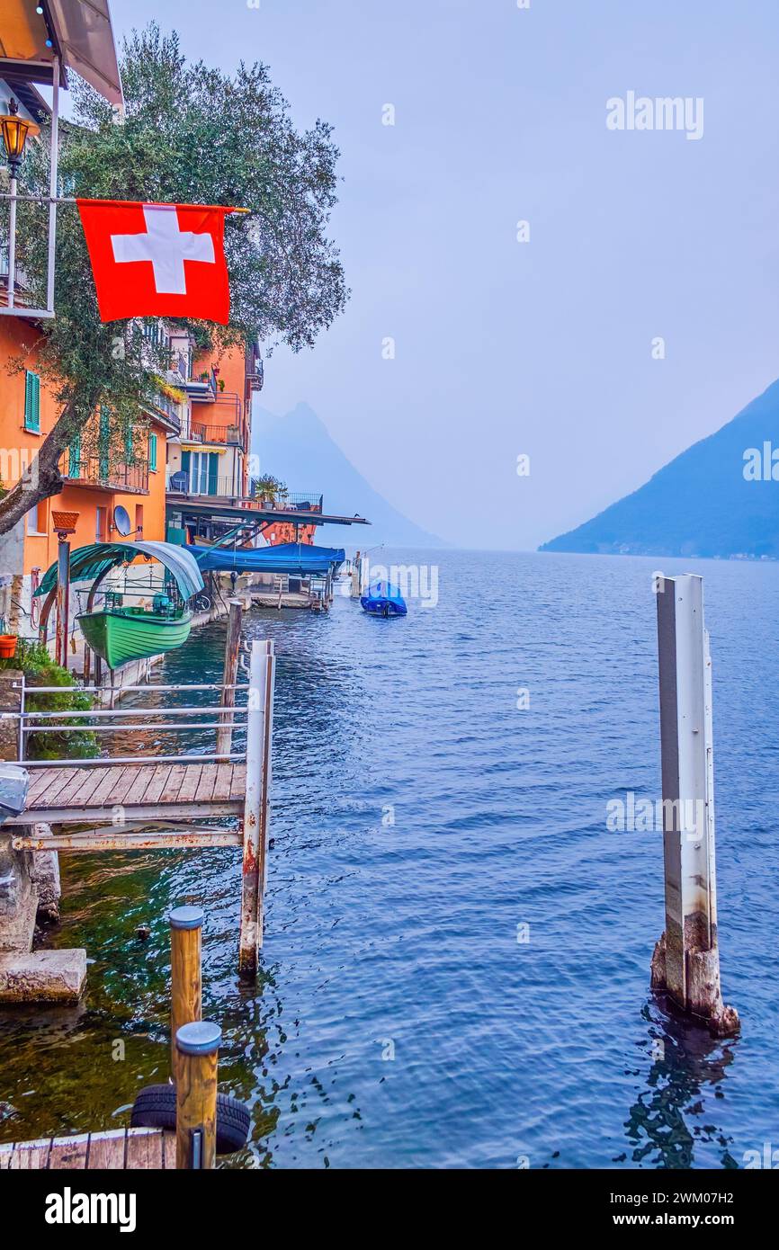
[[[176,1135],[163,1129],[111,1129],[0,1145],[0,1171],[159,1171],[176,1166]]]

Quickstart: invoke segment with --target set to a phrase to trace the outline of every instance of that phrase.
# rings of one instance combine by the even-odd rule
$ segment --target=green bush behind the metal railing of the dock
[[[0,660],[0,669],[21,669],[26,681],[26,711],[90,711],[93,699],[79,690],[70,672],[51,659],[44,646],[19,639],[13,660]],[[33,694],[35,686],[61,686],[60,691]],[[58,724],[79,725],[78,716]],[[43,724],[54,724],[44,721]],[[85,759],[98,755],[98,739],[89,729],[63,734],[30,734],[26,755],[31,760]]]

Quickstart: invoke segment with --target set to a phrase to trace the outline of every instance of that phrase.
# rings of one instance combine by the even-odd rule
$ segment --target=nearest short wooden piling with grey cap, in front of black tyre
[[[216,1161],[216,1076],[221,1029],[208,1020],[181,1025],[176,1081],[176,1168]]]

